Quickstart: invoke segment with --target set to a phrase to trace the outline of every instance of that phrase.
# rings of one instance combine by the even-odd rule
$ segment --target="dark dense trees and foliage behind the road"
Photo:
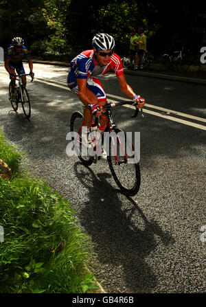
[[[159,0],[1,0],[0,45],[23,36],[33,56],[69,54],[91,47],[96,32],[115,37],[119,54],[128,52],[133,27],[143,26],[148,50],[190,49],[198,54],[206,43],[205,3]]]

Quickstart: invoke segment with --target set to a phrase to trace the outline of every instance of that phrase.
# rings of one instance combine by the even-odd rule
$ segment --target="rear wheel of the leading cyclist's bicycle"
[[[91,164],[93,163],[93,157],[89,156],[86,146],[82,144],[82,128],[81,128],[82,120],[83,120],[83,115],[78,111],[74,112],[71,115],[71,123],[70,123],[71,138],[80,161],[84,164],[84,166],[91,166]],[[87,155],[85,155],[86,152]]]

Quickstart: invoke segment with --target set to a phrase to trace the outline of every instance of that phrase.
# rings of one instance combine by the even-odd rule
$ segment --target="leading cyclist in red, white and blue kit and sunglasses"
[[[71,61],[67,83],[69,89],[78,95],[85,106],[83,125],[89,128],[92,116],[95,115],[101,116],[100,124],[106,127],[106,115],[102,115],[106,94],[99,80],[105,73],[111,69],[115,71],[122,93],[137,102],[137,108],[144,106],[145,101],[137,96],[126,82],[122,60],[114,53],[113,36],[98,33],[93,37],[92,46],[93,49],[82,52]]]

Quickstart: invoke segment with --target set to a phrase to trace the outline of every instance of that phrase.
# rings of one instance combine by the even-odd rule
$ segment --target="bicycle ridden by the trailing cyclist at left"
[[[17,97],[16,99],[12,99],[12,80],[10,81],[9,84],[9,99],[12,104],[12,108],[16,112],[19,106],[19,103],[21,103],[23,113],[25,117],[30,118],[31,115],[31,104],[30,104],[30,97],[27,92],[27,89],[23,85],[22,77],[23,76],[30,76],[30,74],[21,74],[16,76],[16,80],[19,81],[19,86],[16,87],[17,91]],[[32,76],[30,76],[32,78]],[[34,80],[32,78],[31,82]]]

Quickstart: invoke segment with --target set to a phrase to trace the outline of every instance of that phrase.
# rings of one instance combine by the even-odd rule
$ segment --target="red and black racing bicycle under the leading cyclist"
[[[122,106],[128,102],[107,102],[102,113],[107,116],[107,125],[104,133],[100,130],[100,117],[93,117],[89,131],[84,132],[82,127],[83,115],[76,111],[71,116],[71,139],[74,149],[84,166],[91,166],[101,158],[102,145],[106,150],[108,166],[119,189],[126,196],[134,196],[139,191],[140,168],[137,149],[133,146],[132,138],[122,129],[117,128],[113,120],[112,107]],[[141,109],[142,112],[142,109]],[[139,109],[136,109],[137,117]],[[83,135],[90,141],[84,144]],[[87,148],[89,146],[89,148]]]

